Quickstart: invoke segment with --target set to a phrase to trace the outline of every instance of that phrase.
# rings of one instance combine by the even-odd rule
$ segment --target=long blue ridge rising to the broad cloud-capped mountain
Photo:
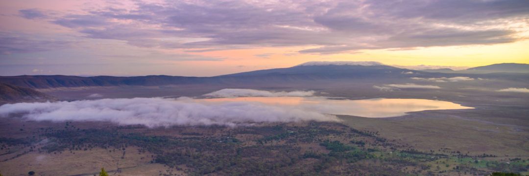
[[[0,77],[0,82],[29,88],[89,87],[89,86],[165,86],[190,84],[273,84],[326,79],[364,79],[409,77],[401,74],[412,70],[385,66],[378,62],[362,62],[366,66],[351,63],[300,64],[290,68],[257,70],[215,77],[138,76],[138,77],[78,77],[78,76],[10,76]],[[370,66],[372,64],[372,66]]]

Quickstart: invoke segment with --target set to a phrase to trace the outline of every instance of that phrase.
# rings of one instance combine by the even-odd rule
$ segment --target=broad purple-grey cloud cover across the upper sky
[[[526,37],[529,14],[526,0],[138,1],[110,6],[53,16],[34,8],[19,13],[86,38],[142,48],[315,46],[299,52],[319,54],[515,42]]]

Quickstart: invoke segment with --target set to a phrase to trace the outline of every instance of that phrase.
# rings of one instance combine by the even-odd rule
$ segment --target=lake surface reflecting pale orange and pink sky
[[[236,97],[195,99],[199,103],[216,104],[229,102],[253,102],[271,106],[293,106],[308,111],[335,115],[352,115],[361,117],[396,117],[407,112],[439,109],[472,109],[449,101],[428,99],[363,99],[335,100],[326,97]]]

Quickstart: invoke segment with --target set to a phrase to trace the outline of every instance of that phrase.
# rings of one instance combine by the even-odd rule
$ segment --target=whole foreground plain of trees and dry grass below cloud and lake
[[[341,123],[146,128],[12,117],[0,126],[12,126],[0,134],[6,175],[484,175],[526,172],[528,161],[422,150]]]

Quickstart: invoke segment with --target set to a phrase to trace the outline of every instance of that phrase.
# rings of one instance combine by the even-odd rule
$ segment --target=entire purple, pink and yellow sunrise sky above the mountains
[[[527,0],[0,0],[0,76],[529,63]]]

